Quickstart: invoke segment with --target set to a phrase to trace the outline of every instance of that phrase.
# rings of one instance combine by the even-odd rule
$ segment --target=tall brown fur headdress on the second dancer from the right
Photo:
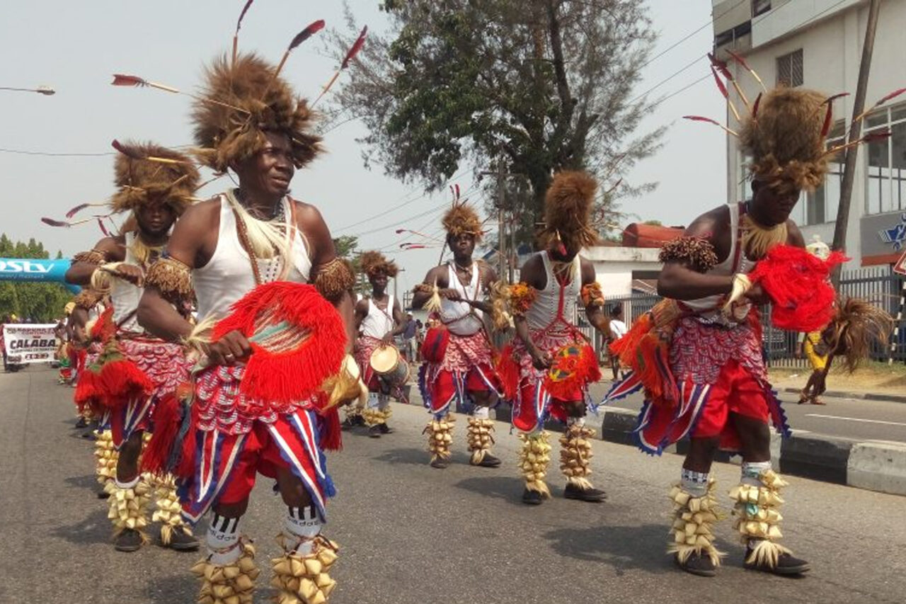
[[[598,242],[591,226],[594,193],[598,182],[586,172],[564,170],[554,174],[545,197],[545,225],[539,239],[545,248],[563,244],[578,251]]]

